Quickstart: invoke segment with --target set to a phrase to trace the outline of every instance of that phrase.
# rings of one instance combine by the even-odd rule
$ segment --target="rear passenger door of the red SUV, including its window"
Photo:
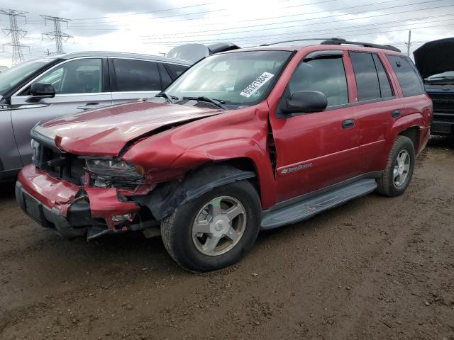
[[[394,120],[405,113],[404,99],[393,89],[378,54],[350,51],[349,55],[356,80],[362,172],[380,171],[387,157],[387,136]]]

